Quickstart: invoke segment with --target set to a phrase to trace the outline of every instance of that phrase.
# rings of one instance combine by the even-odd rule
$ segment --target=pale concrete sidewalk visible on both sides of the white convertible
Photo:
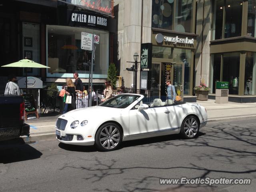
[[[234,103],[216,104],[215,100],[197,101],[204,106],[208,114],[208,122],[215,120],[230,120],[234,118],[256,117],[256,103]],[[41,114],[38,119],[26,120],[30,125],[30,138],[23,136],[26,142],[38,139],[55,138],[55,122],[60,116],[58,112]],[[39,138],[38,138],[39,137]]]

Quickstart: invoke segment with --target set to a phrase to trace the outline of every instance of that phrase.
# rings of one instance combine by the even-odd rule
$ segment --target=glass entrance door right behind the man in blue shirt
[[[184,95],[184,62],[177,62],[172,66],[172,85],[175,86],[177,93],[183,101]]]

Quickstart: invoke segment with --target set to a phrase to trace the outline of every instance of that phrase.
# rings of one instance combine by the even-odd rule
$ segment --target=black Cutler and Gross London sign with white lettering
[[[109,18],[89,12],[67,11],[68,25],[109,30]]]

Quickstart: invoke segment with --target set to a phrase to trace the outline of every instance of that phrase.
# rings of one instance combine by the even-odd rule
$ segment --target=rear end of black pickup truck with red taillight
[[[24,123],[25,104],[22,96],[0,96],[0,141],[28,135],[30,126]]]

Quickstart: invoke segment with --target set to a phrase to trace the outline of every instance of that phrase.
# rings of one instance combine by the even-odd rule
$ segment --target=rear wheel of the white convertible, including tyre
[[[199,131],[199,122],[195,116],[188,116],[181,124],[180,134],[185,139],[195,138]]]

